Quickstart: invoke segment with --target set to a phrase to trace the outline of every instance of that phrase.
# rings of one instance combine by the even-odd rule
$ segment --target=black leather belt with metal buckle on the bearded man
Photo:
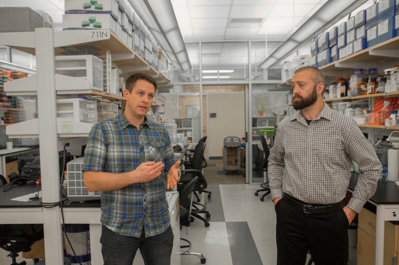
[[[290,205],[300,210],[303,210],[304,213],[335,212],[337,210],[344,208],[344,206],[346,205],[345,199],[343,199],[339,203],[326,204],[326,205],[310,205],[308,203],[301,202],[298,199],[295,199],[294,197],[286,193],[282,195],[282,199],[286,203],[289,203]]]

